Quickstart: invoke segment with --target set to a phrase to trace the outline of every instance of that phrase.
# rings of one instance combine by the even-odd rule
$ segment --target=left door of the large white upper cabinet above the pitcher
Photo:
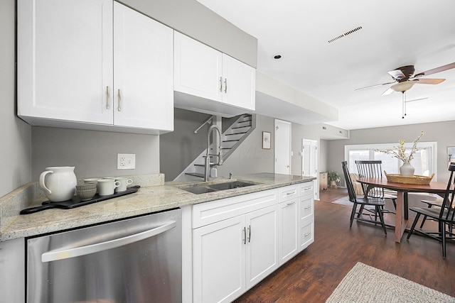
[[[112,124],[112,1],[18,1],[18,116]]]

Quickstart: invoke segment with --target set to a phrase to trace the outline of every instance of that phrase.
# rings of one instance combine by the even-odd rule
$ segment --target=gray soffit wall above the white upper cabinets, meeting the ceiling
[[[257,67],[257,39],[196,0],[122,0],[124,4],[216,50]]]

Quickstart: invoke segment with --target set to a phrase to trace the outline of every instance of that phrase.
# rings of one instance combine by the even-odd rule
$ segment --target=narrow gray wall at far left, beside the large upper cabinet
[[[16,118],[14,0],[0,0],[0,197],[30,182],[31,127]]]

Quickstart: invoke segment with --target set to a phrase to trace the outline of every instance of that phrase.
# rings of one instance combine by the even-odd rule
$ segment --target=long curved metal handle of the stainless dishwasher
[[[51,251],[48,251],[47,253],[43,253],[43,255],[41,255],[41,262],[45,263],[45,262],[52,262],[52,261],[56,261],[56,260],[69,259],[69,258],[79,257],[81,255],[90,255],[90,253],[98,253],[102,250],[109,250],[112,248],[125,246],[127,244],[141,241],[146,238],[150,238],[150,237],[159,235],[160,233],[164,233],[165,231],[168,231],[169,229],[176,227],[176,225],[177,225],[176,221],[171,221],[162,226],[159,226],[159,227],[156,227],[153,229],[149,229],[147,231],[142,231],[141,233],[135,233],[134,235],[131,235],[131,236],[114,239],[111,241],[95,243],[95,244],[90,244],[87,246],[80,246],[80,247],[76,247],[76,248],[69,248],[69,249],[63,249],[63,250],[51,250]]]

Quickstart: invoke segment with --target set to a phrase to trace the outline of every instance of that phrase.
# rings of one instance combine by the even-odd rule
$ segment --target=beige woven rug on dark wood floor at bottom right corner
[[[358,262],[326,302],[448,303],[455,302],[455,298]]]

